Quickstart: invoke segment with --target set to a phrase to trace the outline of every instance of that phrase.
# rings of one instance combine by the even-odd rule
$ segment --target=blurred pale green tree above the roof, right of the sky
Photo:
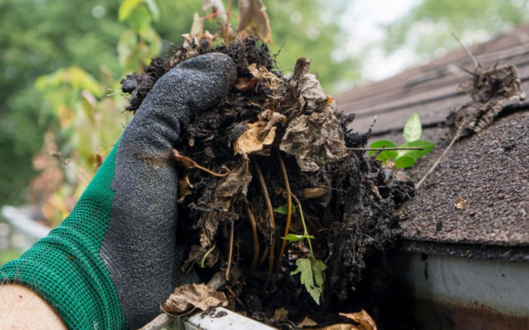
[[[465,42],[483,42],[529,18],[527,0],[424,0],[386,26],[387,54],[401,48],[427,57],[459,47],[454,31]]]

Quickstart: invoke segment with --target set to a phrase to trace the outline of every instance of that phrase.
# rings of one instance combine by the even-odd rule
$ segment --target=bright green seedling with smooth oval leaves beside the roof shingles
[[[431,141],[421,139],[422,135],[422,124],[421,118],[415,112],[409,117],[404,125],[404,140],[406,143],[401,145],[402,148],[416,147],[422,148],[423,150],[384,150],[378,154],[377,159],[382,161],[383,164],[388,161],[392,162],[396,168],[412,167],[417,159],[430,153],[435,144]],[[373,142],[370,148],[397,148],[397,144],[390,140],[377,140]],[[369,156],[375,155],[376,151],[369,152]]]

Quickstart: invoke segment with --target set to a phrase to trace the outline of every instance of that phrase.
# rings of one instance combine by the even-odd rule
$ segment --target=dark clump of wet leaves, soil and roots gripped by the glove
[[[321,326],[352,309],[377,323],[400,313],[381,260],[413,184],[376,155],[349,149],[366,146],[371,130],[349,128],[354,115],[323,92],[310,60],[284,75],[252,37],[192,40],[122,81],[127,110],[168,70],[208,52],[231,56],[238,80],[217,109],[191,117],[174,150],[179,236],[189,248],[182,271],[222,271],[229,308],[275,326],[305,317]],[[287,316],[274,317],[281,308]]]

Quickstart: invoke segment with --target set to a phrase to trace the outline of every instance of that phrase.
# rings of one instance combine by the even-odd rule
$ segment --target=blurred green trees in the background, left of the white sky
[[[127,1],[132,7],[143,3]],[[35,88],[37,77],[77,65],[99,83],[107,78],[115,82],[123,73],[147,64],[148,56],[167,53],[171,42],[181,43],[180,35],[189,32],[193,13],[204,15],[201,0],[157,0],[158,14],[152,12],[152,1],[144,2],[151,15],[147,21],[139,15],[145,10],[142,7],[125,18],[122,12],[119,22],[120,0],[0,0],[0,205],[24,200],[35,175],[31,156],[41,148],[45,131],[56,130],[66,143],[68,135],[59,134],[58,112],[44,111],[53,109],[43,97],[49,97],[50,89]],[[321,0],[264,2],[276,43],[272,52],[284,44],[277,58],[282,69],[293,70],[299,56],[312,58],[313,72],[328,93],[336,82],[357,78],[359,63],[342,52],[346,31],[338,22],[345,0],[333,0],[332,5]],[[145,28],[147,23],[153,29]],[[214,22],[207,24],[216,31]],[[132,63],[127,58],[143,60]],[[60,76],[65,71],[57,72]],[[111,77],[105,78],[108,74]],[[111,83],[104,87],[117,88]]]

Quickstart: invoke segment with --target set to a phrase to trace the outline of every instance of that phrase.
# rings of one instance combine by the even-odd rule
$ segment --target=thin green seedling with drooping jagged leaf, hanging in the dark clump
[[[298,204],[297,208],[299,209],[299,218],[303,224],[303,235],[288,234],[285,237],[282,237],[282,239],[291,242],[307,240],[309,253],[308,258],[299,258],[296,260],[297,268],[296,270],[290,272],[290,275],[300,274],[301,284],[305,286],[312,299],[316,301],[316,304],[320,305],[320,298],[323,295],[323,285],[325,282],[325,269],[327,269],[327,266],[325,266],[323,261],[314,257],[311,243],[311,239],[314,239],[314,236],[308,234],[301,203],[294,195],[292,196]],[[275,209],[274,212],[286,214],[287,210],[288,206],[282,205]],[[294,213],[295,211],[296,209],[293,206],[292,212]]]

